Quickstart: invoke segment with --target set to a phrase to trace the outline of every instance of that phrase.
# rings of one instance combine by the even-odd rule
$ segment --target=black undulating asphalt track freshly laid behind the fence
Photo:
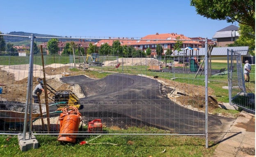
[[[205,133],[205,114],[171,101],[154,78],[117,73],[98,80],[85,75],[61,80],[80,85],[86,95],[80,98],[80,104],[84,105],[80,112],[84,117],[101,118],[106,125],[122,128],[153,126],[171,133]],[[210,137],[215,141],[222,139],[234,120],[209,114]]]

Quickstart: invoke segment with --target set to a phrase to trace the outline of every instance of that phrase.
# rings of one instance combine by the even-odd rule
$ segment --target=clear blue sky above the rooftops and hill
[[[3,0],[0,6],[2,33],[95,38],[178,33],[211,39],[232,24],[198,15],[190,0]]]

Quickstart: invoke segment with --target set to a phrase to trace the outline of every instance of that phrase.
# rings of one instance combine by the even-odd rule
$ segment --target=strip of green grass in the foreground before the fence
[[[149,131],[165,133],[164,130],[148,128]],[[136,128],[137,130],[137,128]],[[111,130],[109,129],[110,133]],[[123,130],[123,133],[133,131],[133,128]],[[37,136],[38,149],[22,152],[15,136],[0,136],[1,157],[211,157],[216,145],[209,142],[205,147],[203,137],[172,136],[172,135],[102,135],[77,137],[75,144],[63,144],[57,137]],[[81,141],[90,144],[80,145]],[[106,144],[110,143],[110,144]],[[112,144],[117,144],[112,145]],[[163,152],[164,151],[164,152]],[[163,153],[162,153],[163,152]]]

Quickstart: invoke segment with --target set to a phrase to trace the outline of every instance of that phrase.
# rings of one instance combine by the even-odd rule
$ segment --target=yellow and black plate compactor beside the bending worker
[[[42,86],[43,83],[41,82],[41,78],[37,79],[37,82],[39,82]],[[54,94],[53,98],[48,97],[50,100],[52,100],[56,106],[57,110],[60,110],[64,108],[65,106],[73,106],[78,109],[82,109],[82,105],[80,105],[79,98],[75,93],[72,91],[66,90],[66,91],[56,91],[53,87],[51,87],[49,84],[46,83],[46,88]]]

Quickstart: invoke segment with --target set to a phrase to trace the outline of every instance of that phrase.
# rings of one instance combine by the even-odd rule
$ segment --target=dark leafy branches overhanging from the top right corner
[[[255,0],[190,0],[197,14],[213,20],[245,24],[255,33]]]

